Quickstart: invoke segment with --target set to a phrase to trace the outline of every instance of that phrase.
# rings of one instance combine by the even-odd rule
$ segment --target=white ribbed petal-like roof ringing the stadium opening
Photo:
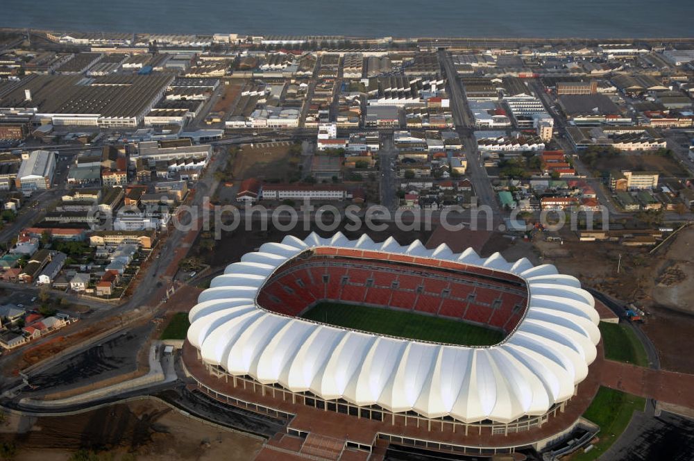
[[[387,337],[279,315],[256,297],[278,267],[307,249],[363,249],[486,267],[515,274],[527,283],[525,317],[494,346],[454,346]],[[384,258],[386,259],[386,258]],[[452,253],[442,244],[425,249],[415,241],[400,246],[392,237],[374,243],[341,233],[305,240],[287,236],[266,243],[229,265],[212,280],[189,312],[188,341],[208,364],[291,392],[322,399],[380,405],[392,412],[452,417],[472,423],[508,423],[545,414],[570,399],[588,374],[600,340],[593,296],[579,281],[552,265],[533,267],[523,258],[507,262],[499,253]]]

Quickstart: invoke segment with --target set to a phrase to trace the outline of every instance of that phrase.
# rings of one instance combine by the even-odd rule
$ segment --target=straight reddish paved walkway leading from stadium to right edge
[[[694,375],[605,360],[602,385],[694,410]]]

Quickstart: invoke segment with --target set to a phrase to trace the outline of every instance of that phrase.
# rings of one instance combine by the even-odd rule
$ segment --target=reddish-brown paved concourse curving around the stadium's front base
[[[477,428],[471,427],[468,435],[465,435],[461,428],[458,428],[458,430],[453,433],[450,429],[450,425],[446,425],[444,430],[441,430],[440,426],[435,421],[432,421],[432,430],[428,430],[425,424],[420,424],[421,427],[417,427],[412,418],[407,421],[406,425],[405,418],[399,415],[396,416],[395,424],[392,424],[389,415],[384,415],[384,421],[373,421],[363,418],[357,419],[357,417],[347,416],[345,414],[319,410],[301,404],[293,404],[291,401],[282,401],[280,393],[278,393],[276,397],[273,397],[271,394],[261,395],[260,392],[255,393],[250,388],[244,389],[243,387],[234,387],[231,380],[226,383],[223,378],[217,378],[208,374],[203,362],[197,358],[196,349],[189,344],[189,342],[185,342],[182,351],[182,359],[185,363],[185,367],[198,383],[210,387],[210,389],[214,389],[220,394],[226,394],[242,401],[258,403],[268,408],[294,414],[295,416],[287,425],[289,429],[319,435],[325,437],[325,439],[348,439],[350,442],[357,442],[365,446],[373,446],[377,441],[380,442],[377,439],[378,433],[387,433],[414,439],[430,439],[444,444],[484,446],[490,448],[532,444],[538,440],[551,437],[561,430],[564,430],[564,428],[572,426],[584,413],[586,408],[588,408],[595,394],[598,392],[604,364],[602,357],[602,342],[600,342],[600,344],[598,344],[598,359],[590,365],[588,377],[579,384],[577,394],[568,402],[564,412],[557,412],[555,417],[550,417],[549,421],[541,427],[535,427],[525,432],[509,433],[508,435],[492,435],[489,428],[483,428],[482,434],[480,435]],[[205,392],[203,387],[191,387],[197,389],[198,392]],[[205,394],[212,398],[217,398],[214,394],[207,392],[205,392]],[[219,400],[226,403],[223,396],[219,396]],[[296,437],[289,437],[286,435],[280,438],[277,437],[280,437],[280,435],[271,439],[268,444],[269,446],[266,446],[267,450],[275,451],[272,447],[279,446],[280,449],[286,449],[287,452],[294,451],[300,457],[296,459],[307,458],[307,453],[305,452],[303,458],[301,458],[301,449],[298,449],[296,446],[298,442],[293,442],[291,440]],[[294,449],[291,449],[291,446],[294,446]],[[277,459],[276,453],[264,453],[264,451],[261,452],[259,455],[260,458],[257,459]],[[353,455],[356,456],[358,454],[359,452],[356,451],[355,453],[347,453],[346,450],[339,459],[359,459],[353,458]],[[272,455],[274,455],[275,458],[272,458]],[[293,458],[289,458],[287,455],[284,459]]]

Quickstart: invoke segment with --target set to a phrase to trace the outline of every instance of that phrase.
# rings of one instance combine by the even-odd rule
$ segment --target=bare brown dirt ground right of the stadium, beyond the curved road
[[[694,334],[694,228],[683,230],[654,255],[616,243],[579,242],[568,232],[561,237],[564,244],[534,241],[543,262],[638,305],[647,313],[641,328],[656,346],[661,367],[694,373],[694,355],[688,353]]]

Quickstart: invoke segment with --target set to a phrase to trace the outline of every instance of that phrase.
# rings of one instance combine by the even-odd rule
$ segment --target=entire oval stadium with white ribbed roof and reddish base
[[[198,390],[285,419],[319,458],[509,453],[566,435],[590,403],[594,306],[525,258],[287,236],[200,294],[183,359]]]

